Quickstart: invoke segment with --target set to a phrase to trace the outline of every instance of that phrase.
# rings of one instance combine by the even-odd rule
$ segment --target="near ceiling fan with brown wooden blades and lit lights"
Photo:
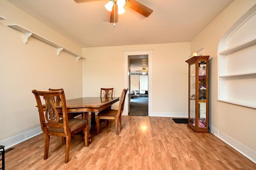
[[[100,0],[74,0],[76,3],[83,3],[83,2],[94,2]],[[153,10],[144,6],[140,2],[136,0],[110,0],[106,5],[106,9],[109,10],[110,13],[110,23],[115,23],[118,21],[118,14],[124,13],[124,5],[128,6],[132,10],[138,12],[139,14],[149,17],[152,14]]]

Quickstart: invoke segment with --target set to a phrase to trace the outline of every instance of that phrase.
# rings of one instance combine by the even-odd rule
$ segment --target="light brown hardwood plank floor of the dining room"
[[[72,137],[67,164],[60,137],[51,137],[48,159],[43,159],[40,134],[5,154],[6,170],[256,170],[256,164],[211,133],[194,133],[171,117],[122,116],[122,127],[116,135],[111,121],[92,136],[89,147],[82,137]]]

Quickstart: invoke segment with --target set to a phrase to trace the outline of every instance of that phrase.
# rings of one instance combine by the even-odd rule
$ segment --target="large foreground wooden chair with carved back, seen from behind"
[[[82,131],[84,134],[85,146],[88,147],[88,121],[86,119],[68,119],[66,98],[63,89],[60,89],[59,91],[32,90],[32,93],[36,98],[40,124],[44,133],[44,159],[48,158],[50,136],[58,136],[62,138],[65,137],[65,163],[68,163],[70,152],[70,139],[72,135]],[[55,99],[58,98],[58,96],[60,97],[60,102],[62,104],[63,118],[60,118],[56,107],[54,106]],[[45,100],[45,110],[43,109],[41,99]]]

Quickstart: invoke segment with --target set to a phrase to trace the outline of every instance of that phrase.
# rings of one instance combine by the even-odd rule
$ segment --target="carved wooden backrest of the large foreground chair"
[[[58,129],[56,132],[64,132],[65,135],[70,133],[70,129],[68,128],[68,114],[67,114],[67,106],[66,106],[66,98],[64,94],[64,90],[60,89],[59,91],[38,91],[32,90],[32,93],[35,95],[36,103],[38,107],[40,124],[42,131],[44,133],[48,133],[48,127]],[[63,120],[60,119],[58,115],[58,111],[54,105],[56,97],[60,97],[62,104],[62,114]],[[41,98],[45,100],[45,109],[43,108],[43,104]]]

